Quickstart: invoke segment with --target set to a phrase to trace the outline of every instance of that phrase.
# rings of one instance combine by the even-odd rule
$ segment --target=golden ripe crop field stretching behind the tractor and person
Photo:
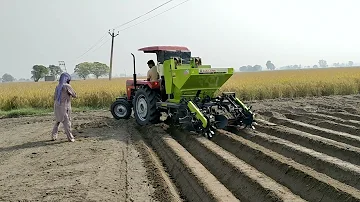
[[[109,108],[125,93],[125,78],[72,81],[73,107]],[[0,110],[53,107],[57,82],[0,84]],[[360,92],[360,68],[329,68],[235,73],[220,89],[242,100],[346,95]]]

